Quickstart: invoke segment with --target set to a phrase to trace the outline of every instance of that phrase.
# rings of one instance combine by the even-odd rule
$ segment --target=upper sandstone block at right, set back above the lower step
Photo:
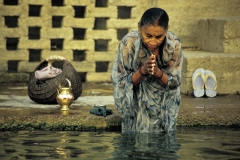
[[[240,16],[199,21],[200,48],[210,52],[240,54]]]

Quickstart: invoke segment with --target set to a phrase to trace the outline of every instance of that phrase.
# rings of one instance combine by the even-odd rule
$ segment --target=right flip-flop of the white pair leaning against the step
[[[210,70],[205,70],[205,92],[208,97],[217,95],[217,79],[215,74]]]

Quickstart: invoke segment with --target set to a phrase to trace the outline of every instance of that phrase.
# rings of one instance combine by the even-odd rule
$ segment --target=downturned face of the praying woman
[[[150,51],[158,49],[167,34],[167,30],[163,27],[154,25],[138,26],[138,31],[142,37],[143,44]]]

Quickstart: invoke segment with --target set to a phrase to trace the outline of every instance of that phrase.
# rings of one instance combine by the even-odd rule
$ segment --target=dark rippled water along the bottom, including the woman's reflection
[[[176,134],[0,132],[0,159],[239,159],[240,130],[178,128]]]

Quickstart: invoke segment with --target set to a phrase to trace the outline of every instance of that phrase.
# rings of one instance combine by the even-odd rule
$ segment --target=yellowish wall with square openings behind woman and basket
[[[193,40],[198,20],[223,12],[206,10],[213,2],[217,1],[191,5],[187,0],[0,0],[0,83],[27,82],[34,68],[50,55],[69,60],[82,81],[110,81],[118,43],[137,29],[144,10],[164,8],[170,30],[183,39],[183,47],[197,47]],[[224,13],[240,15],[239,0],[223,2],[218,8],[229,9]],[[188,10],[197,5],[199,10]]]

